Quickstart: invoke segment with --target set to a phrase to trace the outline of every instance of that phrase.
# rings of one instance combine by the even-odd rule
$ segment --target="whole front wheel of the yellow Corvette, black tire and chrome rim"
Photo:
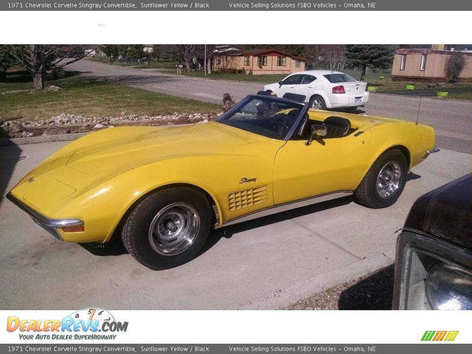
[[[122,239],[128,252],[150,269],[180,266],[195,258],[211,230],[205,195],[186,187],[151,194],[128,216]]]

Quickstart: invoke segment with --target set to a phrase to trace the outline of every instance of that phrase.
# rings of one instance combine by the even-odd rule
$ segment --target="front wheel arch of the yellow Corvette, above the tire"
[[[144,199],[146,199],[151,194],[154,194],[154,193],[159,192],[161,190],[169,189],[169,188],[177,188],[177,187],[186,187],[186,188],[191,188],[191,189],[197,190],[199,192],[202,192],[205,195],[205,197],[207,198],[207,202],[209,203],[210,207],[213,210],[213,212],[212,212],[212,216],[213,216],[212,222],[213,222],[213,224],[214,225],[220,225],[221,220],[222,220],[221,219],[221,217],[222,217],[221,207],[220,207],[217,199],[215,198],[215,196],[212,193],[210,193],[207,190],[205,190],[204,188],[202,188],[202,187],[200,187],[196,184],[192,184],[192,183],[187,183],[187,182],[169,183],[169,184],[164,184],[164,185],[160,185],[160,186],[154,187],[152,189],[149,189],[146,193],[144,193],[144,194],[140,195],[138,198],[136,198],[126,208],[124,213],[119,218],[118,223],[115,225],[115,228],[113,229],[113,232],[110,234],[110,236],[104,242],[108,242],[112,238],[115,238],[115,237],[121,237],[120,236],[121,235],[121,228],[123,227],[124,223],[126,222],[126,219],[128,218],[129,214]]]

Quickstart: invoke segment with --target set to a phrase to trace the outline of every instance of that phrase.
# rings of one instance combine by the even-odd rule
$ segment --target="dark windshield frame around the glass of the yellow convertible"
[[[222,122],[222,120],[228,118],[229,116],[233,116],[233,114],[236,113],[241,107],[244,107],[245,105],[247,105],[253,99],[269,100],[269,101],[273,101],[275,103],[277,103],[277,102],[279,102],[279,103],[290,103],[292,105],[299,106],[300,113],[298,114],[298,116],[295,119],[295,122],[292,124],[289,131],[287,132],[287,134],[285,135],[285,137],[282,140],[281,139],[276,139],[276,138],[270,138],[270,137],[267,137],[265,135],[261,135],[261,134],[258,134],[258,133],[255,133],[255,132],[252,132],[252,131],[249,131],[249,130],[245,130],[245,129],[242,129],[240,127],[236,127],[234,125],[230,125],[230,124],[226,124],[226,123]],[[233,128],[240,129],[240,130],[242,130],[244,132],[247,132],[247,133],[256,134],[256,135],[262,136],[266,139],[279,140],[279,141],[288,141],[288,140],[290,140],[290,138],[292,138],[292,136],[295,133],[296,128],[300,125],[303,117],[305,117],[305,115],[307,114],[308,108],[309,108],[308,103],[306,103],[306,102],[299,102],[299,101],[295,101],[295,100],[291,100],[291,99],[287,99],[287,98],[274,97],[274,96],[269,96],[269,95],[252,94],[252,95],[247,95],[242,100],[240,100],[238,103],[236,103],[233,107],[231,107],[227,112],[223,113],[221,116],[216,118],[215,122],[223,124],[225,126],[231,126]]]

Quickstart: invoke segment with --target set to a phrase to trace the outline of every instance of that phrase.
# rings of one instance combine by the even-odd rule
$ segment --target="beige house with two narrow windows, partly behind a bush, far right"
[[[452,51],[438,49],[399,49],[395,52],[392,81],[444,81],[446,60]],[[464,53],[466,65],[460,82],[472,82],[472,52]]]

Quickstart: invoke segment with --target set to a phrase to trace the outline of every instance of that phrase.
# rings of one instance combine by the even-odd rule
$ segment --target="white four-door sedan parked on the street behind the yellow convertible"
[[[355,110],[369,101],[367,83],[356,81],[351,76],[329,70],[299,71],[290,74],[278,83],[264,86],[265,91],[278,97],[285,93],[305,96],[310,108],[330,109],[348,108]]]

